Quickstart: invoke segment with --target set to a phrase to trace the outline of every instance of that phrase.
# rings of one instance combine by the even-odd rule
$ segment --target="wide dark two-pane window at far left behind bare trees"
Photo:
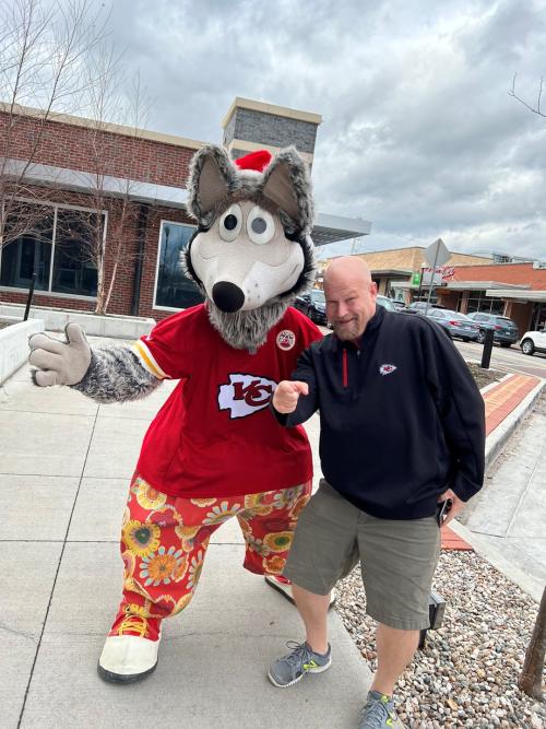
[[[21,205],[5,225],[0,285],[28,289],[35,273],[38,291],[95,296],[92,240],[95,235],[102,239],[105,225],[106,214],[99,221],[80,208]]]

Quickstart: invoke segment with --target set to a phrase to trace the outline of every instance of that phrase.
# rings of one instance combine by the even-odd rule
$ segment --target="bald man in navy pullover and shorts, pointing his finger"
[[[402,727],[393,692],[429,627],[441,505],[451,505],[447,524],[483,484],[484,402],[443,329],[376,307],[361,259],[332,261],[324,293],[333,334],[304,352],[272,401],[288,427],[320,411],[324,479],[283,573],[306,639],[269,678],[285,687],[330,667],[329,593],[360,562],[378,669],[358,727]]]

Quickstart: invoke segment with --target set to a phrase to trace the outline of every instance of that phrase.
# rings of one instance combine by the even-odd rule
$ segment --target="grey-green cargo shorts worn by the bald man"
[[[428,596],[440,554],[435,516],[377,519],[323,479],[301,512],[283,575],[328,595],[360,561],[366,612],[405,631],[429,627]]]

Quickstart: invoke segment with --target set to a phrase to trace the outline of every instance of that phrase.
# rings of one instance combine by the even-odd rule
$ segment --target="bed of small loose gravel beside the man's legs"
[[[373,621],[356,568],[339,584],[336,603],[372,670]],[[517,685],[538,605],[474,552],[442,552],[435,590],[447,601],[443,626],[399,682],[400,718],[411,729],[546,727],[546,704]]]

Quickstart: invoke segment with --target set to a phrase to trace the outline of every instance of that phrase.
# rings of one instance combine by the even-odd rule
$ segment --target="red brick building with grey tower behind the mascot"
[[[180,263],[194,230],[185,184],[203,142],[64,115],[44,122],[28,108],[17,109],[11,129],[10,120],[0,107],[0,158],[12,177],[24,176],[20,209],[34,217],[2,245],[2,303],[24,303],[36,274],[35,305],[95,310],[97,266],[88,251],[98,235],[106,291],[114,279],[108,313],[159,319],[200,301]],[[320,122],[316,114],[236,98],[223,121],[224,144],[234,157],[295,144],[312,165]],[[322,245],[370,227],[319,212],[312,235]]]

